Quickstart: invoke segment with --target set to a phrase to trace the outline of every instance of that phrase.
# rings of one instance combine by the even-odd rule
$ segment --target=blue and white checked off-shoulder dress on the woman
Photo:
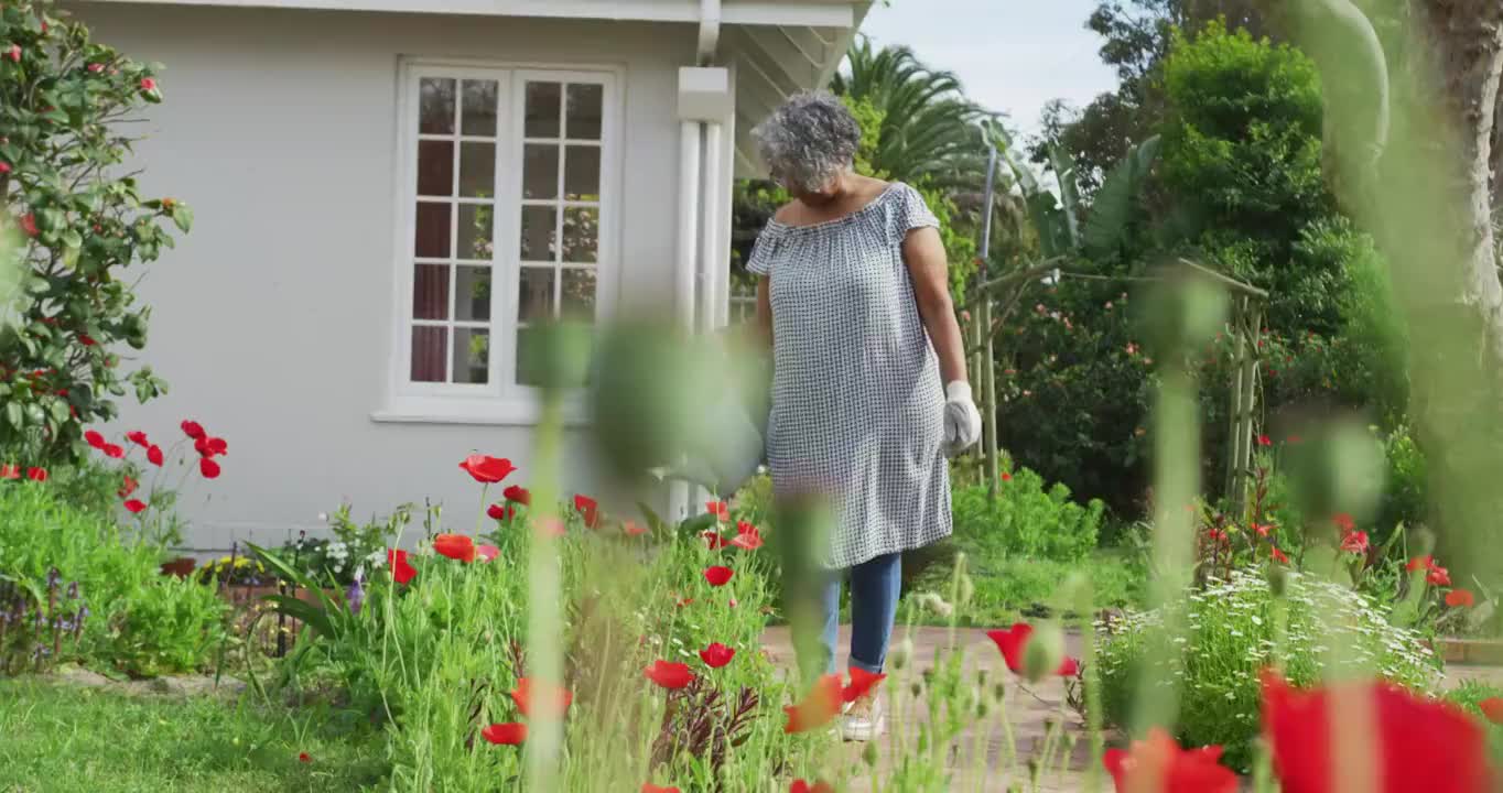
[[[938,225],[893,183],[845,218],[770,222],[747,263],[771,278],[773,485],[831,497],[827,568],[950,535],[939,360],[902,254],[909,231]]]

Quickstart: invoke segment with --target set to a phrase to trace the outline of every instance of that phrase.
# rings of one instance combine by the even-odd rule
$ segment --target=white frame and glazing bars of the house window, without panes
[[[496,197],[491,228],[491,291],[490,291],[490,357],[487,383],[416,383],[412,372],[412,300],[415,287],[413,255],[416,239],[418,197],[418,96],[422,78],[494,80],[497,89],[496,117]],[[540,400],[534,387],[516,383],[517,311],[520,302],[520,236],[522,236],[522,177],[523,123],[526,116],[526,83],[589,83],[601,86],[601,137],[600,137],[600,237],[595,251],[595,323],[609,320],[615,312],[619,293],[619,215],[622,132],[625,105],[622,102],[622,69],[618,66],[588,65],[535,65],[514,62],[488,62],[469,59],[403,59],[398,66],[397,135],[395,135],[395,234],[394,234],[394,299],[392,333],[388,363],[385,404],[371,413],[377,422],[439,422],[439,424],[508,424],[531,425],[538,421]],[[565,92],[567,96],[567,92]],[[461,104],[458,96],[455,105]],[[561,104],[567,107],[567,102]],[[561,135],[567,129],[561,131]],[[466,140],[455,129],[455,140]],[[482,138],[476,138],[482,140]],[[565,138],[565,144],[568,140]],[[455,155],[460,146],[455,144]],[[561,170],[564,165],[561,152]],[[455,162],[454,179],[458,179]],[[562,179],[562,176],[561,176]],[[455,207],[463,198],[448,198]],[[535,201],[529,201],[535,204]],[[546,203],[546,201],[544,201]],[[558,206],[564,201],[562,188]],[[460,212],[451,213],[451,239],[458,245],[457,224]],[[562,222],[559,212],[558,222]],[[562,239],[558,239],[562,245]],[[458,251],[455,251],[458,252]],[[452,266],[452,263],[449,264]],[[555,272],[555,299],[562,288],[562,269]],[[449,290],[448,323],[454,323],[455,288]],[[452,368],[454,350],[448,348],[446,366]],[[583,421],[583,395],[573,395],[565,406],[565,416],[573,422]]]

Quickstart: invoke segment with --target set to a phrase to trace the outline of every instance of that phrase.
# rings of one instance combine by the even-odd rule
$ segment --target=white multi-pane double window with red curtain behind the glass
[[[406,68],[397,403],[440,415],[526,403],[529,332],[597,318],[613,87],[612,72]]]

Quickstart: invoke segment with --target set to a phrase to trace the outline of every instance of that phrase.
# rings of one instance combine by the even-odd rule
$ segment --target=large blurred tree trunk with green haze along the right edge
[[[1378,237],[1413,338],[1432,514],[1458,563],[1495,577],[1503,494],[1503,284],[1492,164],[1503,83],[1495,0],[1282,5],[1332,99],[1338,195]],[[1339,105],[1338,105],[1339,102]]]

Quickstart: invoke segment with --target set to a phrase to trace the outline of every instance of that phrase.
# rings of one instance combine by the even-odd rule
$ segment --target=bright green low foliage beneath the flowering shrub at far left
[[[0,575],[38,589],[53,569],[77,581],[90,611],[78,650],[90,662],[152,676],[213,661],[227,607],[210,587],[164,577],[162,557],[45,484],[0,482]]]

